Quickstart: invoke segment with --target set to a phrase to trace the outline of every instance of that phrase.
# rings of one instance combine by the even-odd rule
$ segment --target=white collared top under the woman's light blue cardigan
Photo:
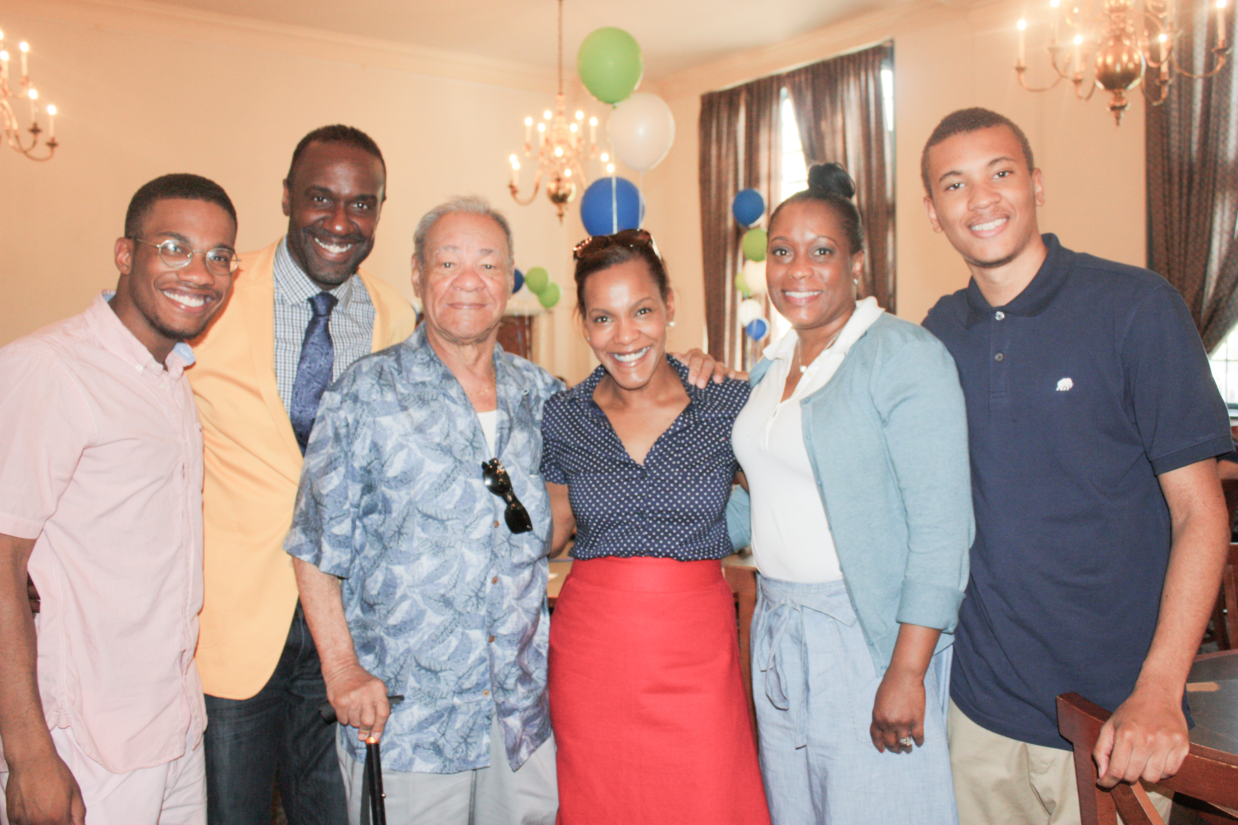
[[[829,521],[803,445],[800,402],[821,390],[842,365],[852,344],[881,313],[875,298],[864,298],[838,339],[807,365],[791,397],[782,401],[786,376],[799,340],[790,330],[765,348],[770,369],[753,387],[735,418],[732,444],[748,477],[753,507],[753,559],[763,575],[816,584],[843,578]],[[829,468],[821,468],[829,472]]]

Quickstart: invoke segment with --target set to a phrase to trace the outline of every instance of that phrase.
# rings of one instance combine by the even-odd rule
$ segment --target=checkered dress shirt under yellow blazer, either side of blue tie
[[[313,318],[310,298],[322,292],[288,254],[288,239],[275,251],[275,382],[284,408],[291,408],[292,385],[306,327]],[[334,289],[339,302],[331,313],[331,341],[335,348],[331,380],[335,381],[353,361],[370,354],[374,341],[374,302],[360,278],[353,276]]]

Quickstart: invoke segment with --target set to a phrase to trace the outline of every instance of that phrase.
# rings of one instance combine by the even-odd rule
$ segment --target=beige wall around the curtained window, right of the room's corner
[[[940,296],[967,284],[958,256],[928,228],[920,183],[924,141],[943,115],[964,106],[995,109],[1028,132],[1045,176],[1044,231],[1057,233],[1067,246],[1144,265],[1143,95],[1135,90],[1119,129],[1101,95],[1080,103],[1062,88],[1045,94],[1020,89],[1011,69],[1018,42],[1014,22],[1030,14],[1025,9],[1018,1],[973,9],[904,4],[656,84],[675,111],[677,134],[667,160],[646,178],[654,204],[649,226],[680,288],[701,293],[699,95],[888,38],[894,40],[895,62],[900,315],[920,322]],[[1029,57],[1035,57],[1032,42],[1029,38]],[[696,327],[688,329],[699,335],[703,306],[685,306],[681,312],[693,319]]]

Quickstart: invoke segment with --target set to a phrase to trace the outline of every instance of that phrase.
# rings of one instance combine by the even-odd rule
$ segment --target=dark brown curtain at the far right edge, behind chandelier
[[[1214,66],[1210,6],[1179,10],[1179,63]],[[1238,84],[1233,67],[1196,80],[1175,75],[1159,106],[1146,106],[1148,267],[1172,283],[1214,349],[1238,322]]]

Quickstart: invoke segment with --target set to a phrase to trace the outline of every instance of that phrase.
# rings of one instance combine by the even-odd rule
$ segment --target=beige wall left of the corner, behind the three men
[[[365,267],[411,297],[417,218],[448,195],[484,195],[511,218],[516,265],[545,266],[563,287],[560,307],[540,317],[539,360],[572,380],[586,374],[569,299],[569,250],[583,230],[578,219],[561,226],[542,195],[519,207],[506,188],[525,115],[553,103],[551,74],[210,15],[145,14],[155,9],[0,0],[0,28],[33,45],[35,80],[63,113],[51,162],[0,147],[0,344],[115,283],[125,207],[155,176],[220,183],[239,213],[239,249],[277,239],[293,146],[316,126],[347,122],[378,141],[389,172]],[[540,309],[527,291],[515,303]]]

